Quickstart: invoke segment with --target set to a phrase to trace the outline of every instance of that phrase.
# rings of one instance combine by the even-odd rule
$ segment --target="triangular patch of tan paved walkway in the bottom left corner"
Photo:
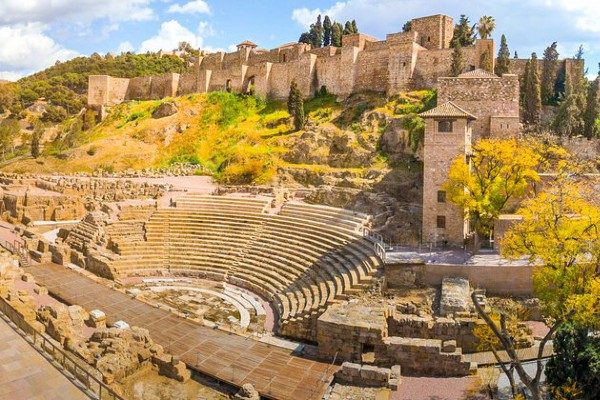
[[[0,399],[89,399],[0,318]]]

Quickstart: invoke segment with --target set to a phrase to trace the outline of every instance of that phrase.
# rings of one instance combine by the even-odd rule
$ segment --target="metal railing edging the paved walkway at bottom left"
[[[65,371],[69,372],[85,388],[87,394],[93,394],[99,400],[125,400],[108,387],[101,378],[97,370],[92,370],[91,366],[84,364],[83,360],[76,360],[75,357],[67,354],[64,349],[56,344],[45,334],[38,332],[23,316],[10,306],[4,299],[0,298],[0,312],[6,316],[13,324],[20,329],[24,335],[31,339],[27,340],[36,350],[42,351],[48,358],[59,364]],[[82,366],[81,364],[84,364]]]

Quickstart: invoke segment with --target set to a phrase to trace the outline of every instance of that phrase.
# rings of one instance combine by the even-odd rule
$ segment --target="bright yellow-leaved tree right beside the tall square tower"
[[[470,161],[458,157],[444,185],[448,202],[465,210],[480,237],[489,237],[509,201],[525,196],[539,180],[542,157],[530,143],[480,140]]]

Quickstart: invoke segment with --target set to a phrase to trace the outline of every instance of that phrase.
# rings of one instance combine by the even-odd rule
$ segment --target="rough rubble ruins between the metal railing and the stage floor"
[[[98,326],[97,320],[103,317],[98,310],[88,313],[78,305],[55,304],[42,306],[36,311],[35,300],[29,292],[14,286],[16,279],[28,280],[31,276],[15,266],[14,258],[0,257],[0,298],[36,331],[46,333],[65,350],[95,367],[106,384],[151,365],[158,369],[160,375],[180,382],[191,378],[191,371],[185,363],[165,353],[162,346],[153,342],[146,329],[104,327],[86,337],[84,325]],[[43,287],[36,287],[35,291],[47,294]]]

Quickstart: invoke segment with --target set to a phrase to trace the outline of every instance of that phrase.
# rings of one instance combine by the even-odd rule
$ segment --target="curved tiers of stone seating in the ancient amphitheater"
[[[181,275],[229,282],[272,302],[280,330],[363,290],[382,262],[362,228],[369,216],[287,202],[186,195],[159,208],[144,240],[122,241],[115,277]],[[310,335],[300,335],[311,339]]]

